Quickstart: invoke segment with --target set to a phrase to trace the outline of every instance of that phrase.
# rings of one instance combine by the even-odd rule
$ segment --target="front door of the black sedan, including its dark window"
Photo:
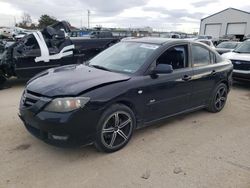
[[[155,63],[172,65],[174,71],[169,74],[145,76],[144,118],[147,122],[190,108],[193,70],[189,66],[188,45],[170,47]]]

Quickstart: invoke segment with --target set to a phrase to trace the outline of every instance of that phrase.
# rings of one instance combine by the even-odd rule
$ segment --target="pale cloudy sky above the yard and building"
[[[0,26],[13,25],[14,16],[21,21],[23,12],[30,14],[35,22],[42,14],[48,14],[76,27],[87,26],[89,9],[91,26],[150,26],[194,31],[193,28],[199,28],[202,17],[228,7],[250,11],[249,0],[179,0],[171,3],[166,0],[0,0]]]

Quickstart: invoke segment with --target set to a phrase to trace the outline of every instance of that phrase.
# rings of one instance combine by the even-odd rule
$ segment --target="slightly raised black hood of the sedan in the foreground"
[[[32,78],[26,89],[47,97],[77,96],[81,93],[129,80],[125,74],[85,65],[70,65],[44,71]]]

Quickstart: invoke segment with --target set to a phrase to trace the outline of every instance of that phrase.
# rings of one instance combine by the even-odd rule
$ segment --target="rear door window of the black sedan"
[[[198,45],[192,45],[192,60],[194,67],[209,65],[211,63],[210,51]]]

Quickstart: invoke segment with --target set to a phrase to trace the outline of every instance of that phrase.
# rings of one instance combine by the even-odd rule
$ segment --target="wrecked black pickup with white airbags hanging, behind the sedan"
[[[9,46],[0,62],[1,82],[12,76],[31,78],[49,68],[82,63],[119,41],[115,38],[69,38],[70,31],[69,24],[62,21]]]

